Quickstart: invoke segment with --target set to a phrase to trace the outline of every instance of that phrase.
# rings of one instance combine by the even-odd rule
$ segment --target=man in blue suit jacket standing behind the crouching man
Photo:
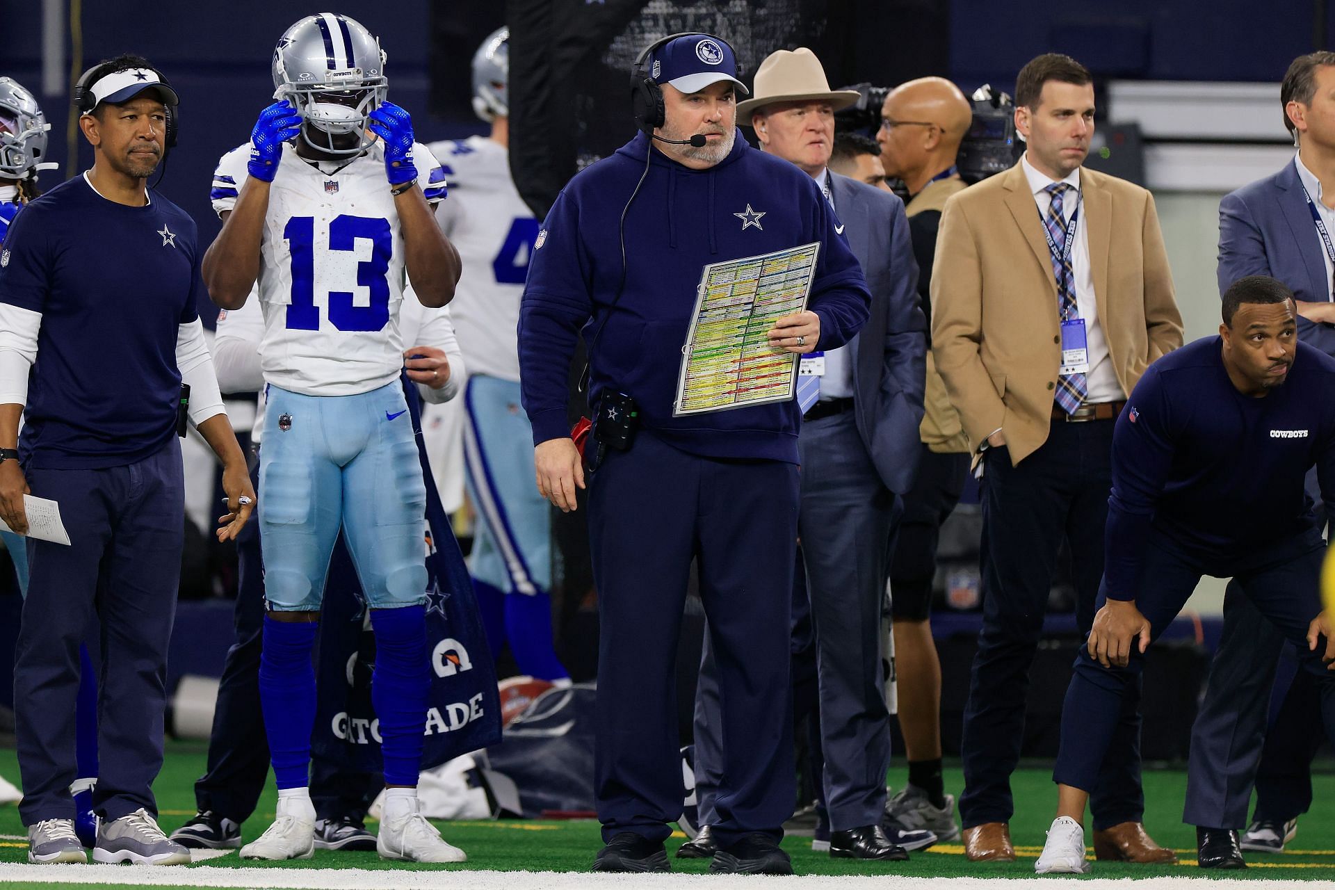
[[[1280,105],[1298,153],[1274,176],[1219,203],[1219,292],[1247,275],[1279,279],[1298,298],[1299,339],[1327,355],[1335,355],[1332,92],[1335,53],[1295,59],[1280,87]],[[1308,474],[1307,490],[1320,510],[1315,472]],[[1312,802],[1310,765],[1323,733],[1319,693],[1303,671],[1266,731],[1283,643],[1279,630],[1231,583],[1223,636],[1192,730],[1183,821],[1220,829],[1246,825],[1255,778],[1256,811],[1242,838],[1243,850],[1283,850],[1296,831],[1298,817]]]

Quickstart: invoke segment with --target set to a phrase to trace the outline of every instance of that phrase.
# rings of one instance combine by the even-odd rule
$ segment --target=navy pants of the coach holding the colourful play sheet
[[[674,663],[692,559],[718,666],[724,738],[714,834],[782,835],[793,813],[789,599],[797,467],[714,460],[641,431],[589,484],[598,586],[594,795],[603,839],[670,834],[685,787]]]

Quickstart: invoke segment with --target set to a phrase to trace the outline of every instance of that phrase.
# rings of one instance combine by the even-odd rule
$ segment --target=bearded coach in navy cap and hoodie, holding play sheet
[[[724,775],[712,871],[790,874],[789,600],[797,539],[797,402],[674,416],[701,270],[818,243],[809,310],[768,331],[776,354],[846,343],[870,294],[816,181],[737,132],[732,47],[672,35],[635,61],[641,132],[582,171],[534,244],[519,368],[538,488],[575,507],[567,368],[589,342],[589,536],[599,594],[594,797],[598,871],[666,871],[681,814],[673,664],[697,560],[718,659]],[[619,238],[614,236],[619,232]],[[629,419],[629,423],[626,422]],[[635,430],[638,426],[638,431]]]

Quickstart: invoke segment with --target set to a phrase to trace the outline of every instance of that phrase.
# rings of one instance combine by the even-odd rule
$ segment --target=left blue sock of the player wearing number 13
[[[278,789],[310,785],[311,730],[315,726],[315,622],[287,623],[264,615],[259,658],[259,698]]]

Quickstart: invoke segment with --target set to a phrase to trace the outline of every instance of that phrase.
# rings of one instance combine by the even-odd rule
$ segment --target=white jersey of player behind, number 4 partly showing
[[[519,298],[538,220],[519,199],[506,148],[485,136],[430,144],[450,200],[437,208],[463,274],[450,303],[470,374],[519,379]]]

